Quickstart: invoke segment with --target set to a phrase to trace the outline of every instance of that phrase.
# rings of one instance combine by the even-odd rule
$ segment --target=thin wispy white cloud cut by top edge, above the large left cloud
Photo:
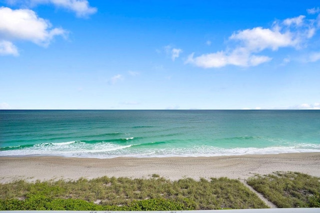
[[[9,4],[22,4],[34,7],[38,4],[53,4],[75,12],[78,17],[87,17],[97,11],[96,7],[91,7],[87,0],[7,0]]]

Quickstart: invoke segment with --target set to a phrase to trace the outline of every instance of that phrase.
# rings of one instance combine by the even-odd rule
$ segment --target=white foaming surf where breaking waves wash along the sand
[[[133,138],[133,137],[132,137]],[[211,157],[231,155],[254,155],[254,154],[280,154],[320,152],[320,144],[299,143],[291,146],[272,146],[264,148],[218,148],[212,146],[190,146],[190,147],[162,147],[147,148],[139,147],[138,144],[119,145],[108,142],[95,144],[84,142],[62,142],[44,143],[17,150],[5,150],[0,156],[29,156],[29,155],[51,155],[64,157],[82,158],[116,158],[116,157]]]

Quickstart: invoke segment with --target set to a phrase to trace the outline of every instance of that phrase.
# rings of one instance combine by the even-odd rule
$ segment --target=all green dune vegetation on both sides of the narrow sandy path
[[[255,175],[247,184],[279,208],[320,208],[320,178]],[[0,210],[178,211],[267,208],[238,180],[108,178],[0,184]]]

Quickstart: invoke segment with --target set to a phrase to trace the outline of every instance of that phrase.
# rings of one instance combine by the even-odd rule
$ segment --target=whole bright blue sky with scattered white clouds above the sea
[[[320,109],[319,0],[0,0],[0,109]]]

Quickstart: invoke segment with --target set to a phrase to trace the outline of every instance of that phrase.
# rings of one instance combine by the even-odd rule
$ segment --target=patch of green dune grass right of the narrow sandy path
[[[256,175],[247,184],[279,208],[320,207],[320,178],[297,172]]]

